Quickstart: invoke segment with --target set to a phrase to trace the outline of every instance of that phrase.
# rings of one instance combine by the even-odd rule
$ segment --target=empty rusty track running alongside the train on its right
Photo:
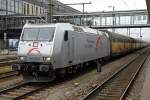
[[[97,86],[83,100],[124,100],[149,52],[146,51]]]

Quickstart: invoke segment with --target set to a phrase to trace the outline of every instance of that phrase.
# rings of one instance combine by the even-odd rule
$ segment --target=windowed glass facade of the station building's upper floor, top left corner
[[[40,15],[45,13],[45,8],[41,4],[27,2],[25,0],[0,0],[0,15],[24,14]]]

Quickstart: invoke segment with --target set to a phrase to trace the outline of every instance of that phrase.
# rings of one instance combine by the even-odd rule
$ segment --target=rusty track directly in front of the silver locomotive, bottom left
[[[0,91],[2,100],[20,100],[48,87],[46,83],[21,83]]]

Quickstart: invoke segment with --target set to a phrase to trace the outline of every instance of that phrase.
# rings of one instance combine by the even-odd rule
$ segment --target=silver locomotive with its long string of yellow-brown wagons
[[[147,46],[134,38],[70,23],[25,24],[12,65],[25,81],[51,82],[86,65]]]

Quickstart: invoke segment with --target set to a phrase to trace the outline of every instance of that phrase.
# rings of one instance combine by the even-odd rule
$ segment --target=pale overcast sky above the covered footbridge
[[[95,11],[111,11],[112,8],[108,6],[115,6],[115,10],[135,10],[135,9],[146,9],[146,0],[58,0],[62,3],[88,3],[92,2],[90,5],[85,6],[85,11],[95,12]],[[74,5],[76,8],[82,11],[81,5]]]

